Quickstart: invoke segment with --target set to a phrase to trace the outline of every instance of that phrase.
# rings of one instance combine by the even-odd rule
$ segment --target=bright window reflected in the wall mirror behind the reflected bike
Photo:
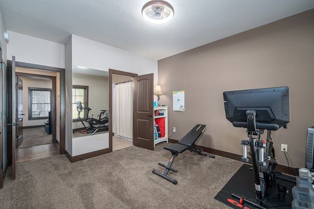
[[[85,109],[78,111],[77,102],[80,102],[83,107],[88,106],[88,86],[73,85],[72,87],[72,118],[73,121],[79,121],[79,117],[84,120]]]

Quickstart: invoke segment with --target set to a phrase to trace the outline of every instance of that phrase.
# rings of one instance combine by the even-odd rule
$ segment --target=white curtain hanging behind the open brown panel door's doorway
[[[115,135],[132,138],[133,94],[132,81],[114,86],[113,132]]]

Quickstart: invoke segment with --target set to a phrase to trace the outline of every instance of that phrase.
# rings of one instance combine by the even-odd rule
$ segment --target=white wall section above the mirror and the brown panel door
[[[138,75],[154,73],[154,83],[157,84],[157,60],[76,35],[72,35],[72,41],[73,65],[104,71],[113,69]]]

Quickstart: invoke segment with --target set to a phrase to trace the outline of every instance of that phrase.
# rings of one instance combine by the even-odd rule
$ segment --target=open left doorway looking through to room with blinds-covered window
[[[59,94],[58,76],[54,72],[16,68],[20,124],[16,126],[16,163],[59,154],[59,135],[52,132],[51,114],[52,109],[58,109],[57,103],[52,103]]]

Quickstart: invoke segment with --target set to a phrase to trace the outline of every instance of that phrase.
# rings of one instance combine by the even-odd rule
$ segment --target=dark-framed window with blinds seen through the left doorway
[[[28,88],[28,120],[48,119],[52,107],[52,89]]]

